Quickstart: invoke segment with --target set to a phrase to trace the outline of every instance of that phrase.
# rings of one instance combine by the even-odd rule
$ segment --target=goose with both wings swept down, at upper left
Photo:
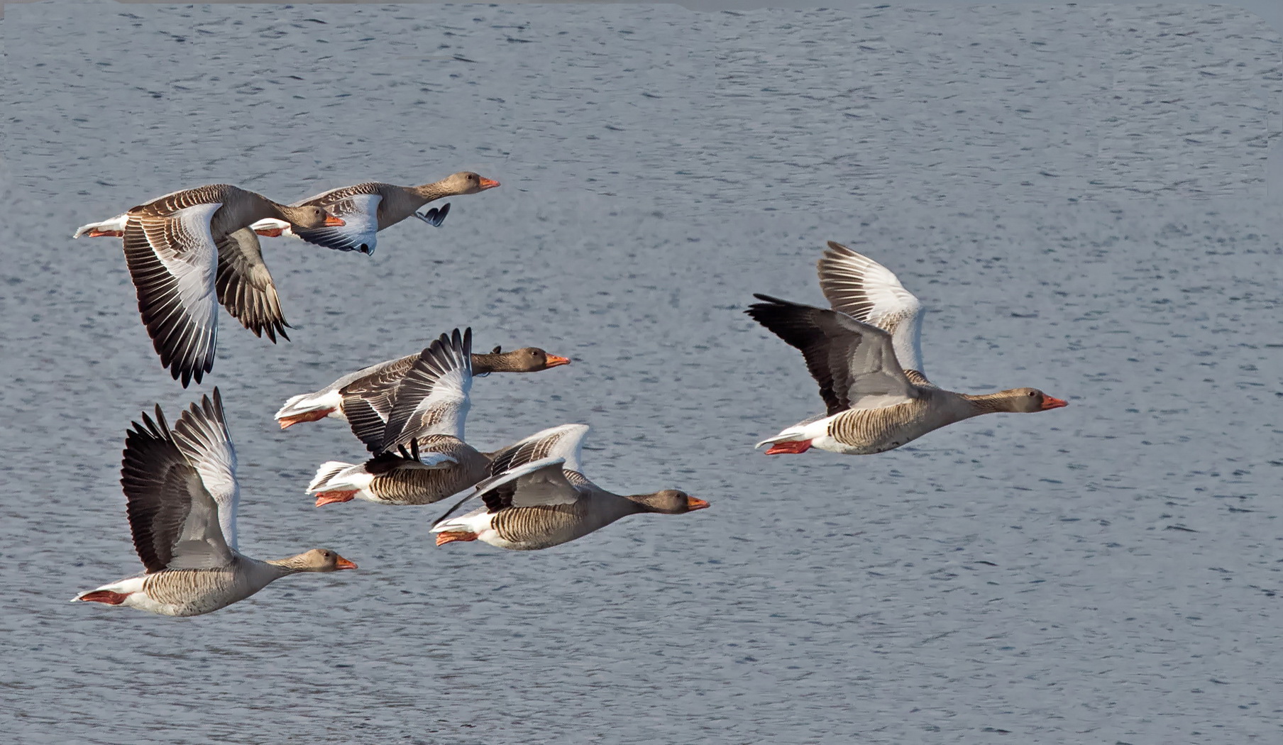
[[[272,342],[289,340],[276,283],[258,236],[246,227],[262,217],[302,227],[343,226],[316,205],[286,206],[226,183],[157,197],[73,237],[117,236],[139,297],[139,313],[160,363],[182,387],[214,367],[221,303],[241,324]]]

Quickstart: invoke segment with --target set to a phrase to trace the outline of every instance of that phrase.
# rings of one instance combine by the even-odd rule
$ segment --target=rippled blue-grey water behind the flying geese
[[[1280,44],[1234,8],[10,5],[0,727],[18,742],[1274,742]],[[1278,164],[1275,155],[1275,164]],[[293,342],[227,315],[162,371],[110,240],[231,181],[282,201],[503,187],[372,258],[264,241]],[[1034,385],[878,456],[766,458],[820,400],[742,314],[825,240],[928,306],[928,373]],[[438,508],[312,506],[287,396],[471,324],[575,359],[473,387],[468,437],[593,426],[617,491],[709,510],[521,554]],[[218,385],[255,557],[358,572],[212,615],[69,605],[137,571],[130,421]]]

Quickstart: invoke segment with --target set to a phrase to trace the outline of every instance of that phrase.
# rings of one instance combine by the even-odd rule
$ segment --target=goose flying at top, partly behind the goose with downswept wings
[[[317,205],[323,206],[334,214],[346,221],[346,226],[340,228],[314,228],[299,230],[280,219],[262,219],[253,224],[260,236],[290,235],[303,239],[309,244],[336,249],[340,251],[361,251],[373,254],[378,242],[376,233],[391,227],[400,221],[414,215],[430,226],[440,227],[445,219],[450,205],[440,209],[430,209],[426,214],[416,210],[425,204],[446,196],[462,196],[476,194],[499,186],[493,178],[485,178],[471,171],[463,171],[446,176],[440,181],[425,183],[422,186],[395,186],[370,181],[355,186],[331,188],[330,191],[309,196],[294,203],[295,206]]]

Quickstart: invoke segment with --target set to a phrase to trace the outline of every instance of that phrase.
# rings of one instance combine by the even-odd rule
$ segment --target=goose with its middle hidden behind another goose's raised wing
[[[416,353],[345,374],[319,391],[290,398],[273,417],[280,422],[282,430],[299,422],[316,422],[327,417],[346,422],[348,415],[343,409],[343,399],[346,392],[380,391],[389,385],[395,385],[405,376],[407,371],[414,367],[418,358],[420,353]],[[570,359],[549,354],[538,346],[511,351],[503,351],[502,346],[497,346],[489,354],[472,355],[472,377],[493,372],[540,372],[563,364],[570,364]]]

